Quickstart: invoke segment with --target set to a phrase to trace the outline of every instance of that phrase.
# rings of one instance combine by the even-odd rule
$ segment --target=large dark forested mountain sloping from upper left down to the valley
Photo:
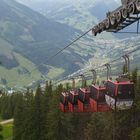
[[[55,59],[46,61],[79,34],[82,34],[80,30],[47,19],[14,0],[1,0],[0,48],[3,51],[0,53],[0,59],[3,65],[0,72],[9,73],[2,78],[6,79],[7,83],[14,83],[12,80],[18,79],[18,76],[26,77],[22,80],[25,84],[25,81],[31,82],[41,78],[41,74],[53,79],[74,72],[94,55],[96,47],[76,43]],[[81,42],[89,44],[91,39],[86,37],[86,41],[84,40]],[[37,69],[37,76],[32,69]]]

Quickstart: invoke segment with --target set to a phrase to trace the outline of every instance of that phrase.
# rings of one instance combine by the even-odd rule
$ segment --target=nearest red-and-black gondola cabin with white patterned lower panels
[[[131,81],[111,81],[108,80],[107,94],[105,99],[113,110],[128,110],[133,105],[134,83]]]

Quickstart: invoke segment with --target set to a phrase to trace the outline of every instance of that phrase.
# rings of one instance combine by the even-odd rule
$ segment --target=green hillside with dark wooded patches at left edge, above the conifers
[[[2,38],[0,38],[0,49],[2,63],[0,66],[0,88],[14,87],[19,89],[21,86],[27,86],[27,83],[40,78],[39,71],[30,73],[32,69],[35,69],[35,64],[13,51],[14,46]]]

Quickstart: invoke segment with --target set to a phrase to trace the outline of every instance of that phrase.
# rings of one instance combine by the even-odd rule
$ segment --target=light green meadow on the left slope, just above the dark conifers
[[[24,58],[18,53],[14,53],[17,61],[19,62],[19,66],[13,69],[6,69],[4,67],[0,67],[1,78],[7,79],[8,86],[21,86],[27,85],[33,80],[38,80],[40,78],[40,73],[37,70],[34,70],[31,74],[30,71],[36,68],[36,66],[30,62],[28,59]],[[19,74],[18,70],[22,70],[26,68],[29,73]]]

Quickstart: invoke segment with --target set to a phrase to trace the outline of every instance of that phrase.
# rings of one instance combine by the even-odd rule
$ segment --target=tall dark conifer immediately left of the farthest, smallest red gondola
[[[59,94],[62,92],[62,85],[59,85],[56,91],[53,93],[52,100],[50,102],[50,111],[47,118],[48,133],[47,140],[62,140],[62,113],[59,109]]]

